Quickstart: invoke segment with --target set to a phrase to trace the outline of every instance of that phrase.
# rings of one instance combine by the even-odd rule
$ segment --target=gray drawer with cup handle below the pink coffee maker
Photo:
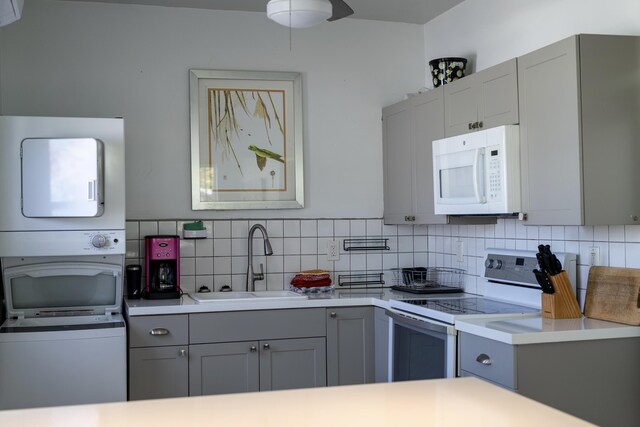
[[[129,318],[129,346],[154,347],[189,344],[189,316],[140,316]]]

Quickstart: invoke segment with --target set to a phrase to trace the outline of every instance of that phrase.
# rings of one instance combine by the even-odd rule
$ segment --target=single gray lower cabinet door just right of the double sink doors
[[[375,382],[373,307],[327,309],[327,383]]]

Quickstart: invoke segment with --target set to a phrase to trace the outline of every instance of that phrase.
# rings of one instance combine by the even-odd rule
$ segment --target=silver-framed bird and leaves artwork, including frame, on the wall
[[[192,209],[304,206],[300,73],[190,70]]]

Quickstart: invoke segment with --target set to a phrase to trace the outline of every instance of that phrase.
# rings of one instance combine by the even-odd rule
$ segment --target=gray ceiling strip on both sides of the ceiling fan
[[[68,0],[65,0],[68,1]],[[268,0],[71,0],[97,3],[144,4],[196,9],[264,12]],[[425,24],[464,0],[346,0],[351,18]]]

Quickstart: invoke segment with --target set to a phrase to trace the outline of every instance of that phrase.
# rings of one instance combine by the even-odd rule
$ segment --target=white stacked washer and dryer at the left
[[[0,409],[124,401],[122,119],[0,116]]]

